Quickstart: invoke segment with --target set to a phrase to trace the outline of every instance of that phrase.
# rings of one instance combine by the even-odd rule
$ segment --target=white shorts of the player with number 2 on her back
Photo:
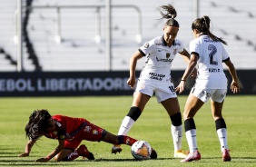
[[[191,93],[202,100],[203,103],[206,103],[209,98],[213,102],[222,103],[226,97],[227,89],[198,89],[192,87]]]

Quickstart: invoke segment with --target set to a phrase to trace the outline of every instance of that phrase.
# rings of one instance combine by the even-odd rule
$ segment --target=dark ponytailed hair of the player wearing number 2
[[[210,32],[210,18],[207,15],[203,15],[202,18],[198,18],[192,23],[192,30],[196,29],[199,33],[208,34],[213,41],[220,41],[222,44],[227,44],[222,38],[219,38]]]

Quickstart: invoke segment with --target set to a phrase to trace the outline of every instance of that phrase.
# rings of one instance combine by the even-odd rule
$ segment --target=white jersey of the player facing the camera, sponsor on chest
[[[146,56],[145,65],[139,77],[144,81],[170,82],[172,60],[177,53],[184,50],[180,40],[175,39],[169,47],[163,36],[159,36],[140,47],[139,51]]]

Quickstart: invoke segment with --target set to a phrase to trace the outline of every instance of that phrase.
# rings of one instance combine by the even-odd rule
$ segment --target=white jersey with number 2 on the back
[[[208,35],[202,34],[190,43],[191,54],[199,59],[196,86],[202,89],[226,89],[227,78],[222,62],[229,60],[222,42],[214,42]]]

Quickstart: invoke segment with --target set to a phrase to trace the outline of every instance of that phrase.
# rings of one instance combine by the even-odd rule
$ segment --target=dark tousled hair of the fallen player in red
[[[25,125],[25,135],[31,139],[37,140],[42,136],[40,132],[45,132],[52,125],[49,123],[52,116],[47,110],[35,110],[29,116],[29,121]]]

